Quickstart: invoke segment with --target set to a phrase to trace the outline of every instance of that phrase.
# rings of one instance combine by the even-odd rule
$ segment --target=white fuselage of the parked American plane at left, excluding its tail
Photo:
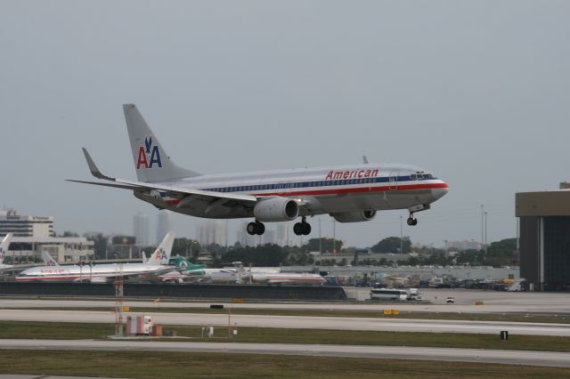
[[[22,271],[16,281],[46,281],[46,282],[105,282],[110,278],[123,276],[126,280],[144,280],[153,278],[165,271],[167,266],[148,263],[111,263],[95,264],[93,266],[42,266]],[[172,269],[172,268],[171,268]]]

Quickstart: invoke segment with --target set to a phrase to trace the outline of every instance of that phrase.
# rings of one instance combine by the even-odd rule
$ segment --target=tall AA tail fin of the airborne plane
[[[175,165],[134,104],[123,105],[123,111],[139,181],[168,181],[199,176],[199,173]]]

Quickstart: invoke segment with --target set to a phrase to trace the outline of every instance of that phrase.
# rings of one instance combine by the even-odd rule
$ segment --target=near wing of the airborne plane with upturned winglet
[[[208,203],[210,203],[212,206],[222,206],[223,203],[232,201],[237,202],[240,206],[251,207],[255,206],[257,202],[257,198],[251,195],[222,193],[202,189],[187,189],[176,186],[162,185],[159,183],[150,183],[144,181],[125,181],[113,178],[101,173],[97,165],[95,165],[93,158],[89,155],[87,149],[83,148],[83,153],[85,155],[85,160],[87,161],[87,165],[89,165],[89,170],[91,173],[94,175],[94,177],[102,179],[104,181],[76,181],[70,179],[68,179],[68,181],[94,184],[105,187],[114,187],[119,189],[133,189],[139,191],[155,189],[159,191],[167,191],[170,193],[170,196],[181,199],[180,203],[177,205],[180,207],[188,205],[195,200],[208,201]]]

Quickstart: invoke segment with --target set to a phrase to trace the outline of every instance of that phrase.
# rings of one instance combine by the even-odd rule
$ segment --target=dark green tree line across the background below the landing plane
[[[105,258],[108,254],[109,237],[98,234],[91,236],[94,239],[95,257]],[[199,254],[208,252],[214,257],[214,264],[227,265],[232,262],[242,262],[244,265],[253,266],[280,266],[280,265],[346,265],[346,264],[374,264],[387,265],[394,264],[389,258],[379,260],[367,257],[369,251],[372,253],[403,253],[411,254],[405,261],[399,261],[400,265],[472,265],[472,266],[493,266],[501,267],[513,264],[514,252],[517,248],[517,238],[506,238],[501,241],[491,243],[484,249],[465,250],[451,256],[444,249],[431,246],[412,246],[410,238],[400,239],[399,237],[387,237],[379,240],[377,244],[366,249],[355,249],[345,247],[342,240],[333,238],[310,238],[303,246],[277,246],[273,244],[261,246],[241,246],[236,243],[233,246],[208,245],[200,246],[199,243],[190,238],[175,238],[172,255],[181,255],[197,262]],[[144,248],[147,256],[152,253],[153,247]],[[329,253],[336,251],[338,254],[345,254],[340,262],[335,259],[318,259],[315,262],[315,253]],[[313,253],[313,254],[312,254]],[[356,254],[354,254],[356,253]],[[356,258],[356,261],[354,260]]]

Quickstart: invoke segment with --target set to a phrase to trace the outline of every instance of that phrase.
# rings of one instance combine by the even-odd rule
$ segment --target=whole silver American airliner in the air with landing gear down
[[[159,209],[212,219],[255,218],[250,235],[265,232],[264,222],[295,223],[308,235],[307,216],[330,214],[338,222],[366,222],[377,211],[429,209],[449,186],[414,165],[368,164],[256,173],[201,174],[175,165],[134,104],[123,106],[138,181],[103,174],[84,148],[91,173],[102,181],[76,181],[130,189],[136,198]]]

